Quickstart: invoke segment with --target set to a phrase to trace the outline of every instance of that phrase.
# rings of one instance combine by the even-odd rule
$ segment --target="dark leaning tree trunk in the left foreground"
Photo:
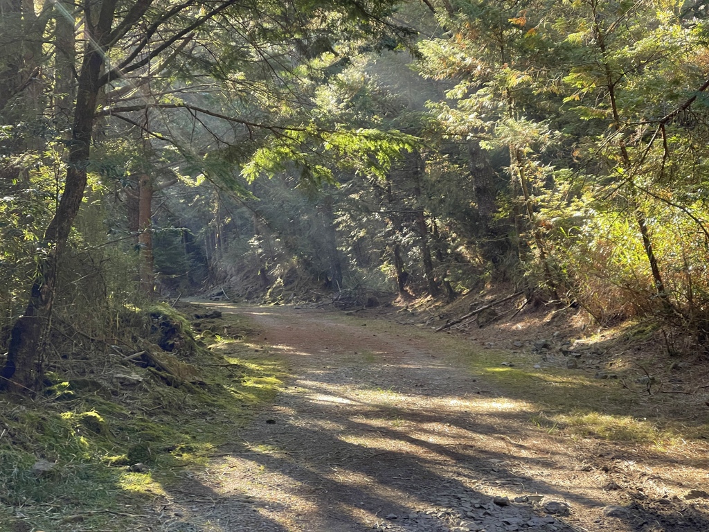
[[[57,265],[65,248],[86,189],[86,167],[91,153],[99,75],[104,62],[102,45],[108,40],[113,11],[118,0],[105,0],[98,23],[91,27],[77,89],[71,148],[69,150],[64,191],[52,221],[45,230],[42,248],[46,255],[39,260],[25,314],[11,331],[11,341],[4,367],[0,370],[0,389],[23,391],[38,384],[38,346],[42,323],[49,318],[55,296]]]

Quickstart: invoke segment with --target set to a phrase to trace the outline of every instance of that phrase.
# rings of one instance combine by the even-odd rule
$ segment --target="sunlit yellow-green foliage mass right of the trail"
[[[558,285],[601,321],[670,306],[703,329],[698,11],[657,1],[474,1],[440,22],[450,34],[420,44],[419,70],[457,84],[430,104],[432,123],[446,138],[481,138],[493,156],[509,150],[509,215],[527,211],[520,250],[535,257],[520,255],[527,277]],[[525,182],[525,194],[515,192]]]

